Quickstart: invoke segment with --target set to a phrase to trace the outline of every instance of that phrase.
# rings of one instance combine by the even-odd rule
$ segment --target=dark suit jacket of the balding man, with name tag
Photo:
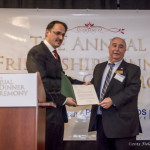
[[[98,64],[93,73],[92,83],[97,95],[100,95],[100,85],[103,71],[107,62]],[[125,79],[123,82],[114,78],[114,73],[104,98],[110,97],[113,104],[109,109],[102,108],[102,123],[105,135],[108,138],[132,137],[139,133],[140,121],[137,108],[138,93],[141,87],[140,68],[136,65],[122,61],[117,69]],[[97,130],[97,109],[92,106],[89,131]]]

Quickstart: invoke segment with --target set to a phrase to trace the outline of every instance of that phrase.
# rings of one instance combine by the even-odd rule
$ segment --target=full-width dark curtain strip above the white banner
[[[150,9],[150,0],[0,0],[0,8]]]

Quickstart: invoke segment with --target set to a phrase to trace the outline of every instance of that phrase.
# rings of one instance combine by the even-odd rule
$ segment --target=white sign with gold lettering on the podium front
[[[37,106],[37,74],[0,74],[0,107]]]

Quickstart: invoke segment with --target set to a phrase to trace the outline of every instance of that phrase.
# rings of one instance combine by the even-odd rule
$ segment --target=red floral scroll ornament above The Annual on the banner
[[[118,33],[120,32],[121,34],[124,34],[125,29],[119,29],[119,28],[105,28],[102,26],[95,26],[93,23],[87,23],[84,26],[77,26],[72,29],[69,29],[68,31],[76,31],[76,32],[84,32],[84,33],[96,33],[96,32],[102,32],[102,30],[109,31],[109,32],[114,32]]]

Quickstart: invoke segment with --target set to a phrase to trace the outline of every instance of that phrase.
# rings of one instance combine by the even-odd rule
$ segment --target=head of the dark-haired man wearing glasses
[[[47,25],[46,32],[45,32],[45,39],[49,42],[54,49],[59,47],[66,34],[68,27],[64,22],[61,21],[52,21]]]

